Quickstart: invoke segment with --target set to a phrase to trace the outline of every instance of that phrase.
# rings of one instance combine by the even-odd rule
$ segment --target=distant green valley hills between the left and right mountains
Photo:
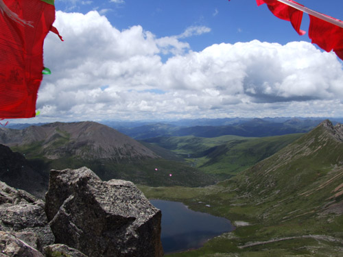
[[[302,135],[289,134],[266,138],[175,136],[150,138],[145,142],[168,149],[177,156],[185,158],[192,167],[224,180],[272,156]]]

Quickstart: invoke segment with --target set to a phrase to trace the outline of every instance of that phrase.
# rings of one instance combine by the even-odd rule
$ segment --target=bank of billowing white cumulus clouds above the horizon
[[[237,42],[191,51],[187,38],[119,31],[99,12],[57,12],[45,40],[37,119],[342,116],[342,64],[308,42]],[[181,34],[182,35],[182,34]],[[162,61],[163,53],[172,56]]]

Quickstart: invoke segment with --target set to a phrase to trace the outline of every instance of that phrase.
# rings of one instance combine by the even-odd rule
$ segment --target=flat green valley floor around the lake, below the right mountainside
[[[236,195],[234,186],[225,183],[202,188],[139,188],[150,199],[182,201],[192,210],[225,217],[236,225],[233,232],[211,239],[200,249],[168,254],[170,257],[343,255],[342,215],[318,215],[314,210],[290,211],[287,204],[276,207],[280,208],[279,215],[268,214],[264,212],[269,208],[265,204],[244,203],[243,197]]]

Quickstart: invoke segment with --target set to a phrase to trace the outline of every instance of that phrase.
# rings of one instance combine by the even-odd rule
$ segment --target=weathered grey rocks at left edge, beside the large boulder
[[[0,182],[0,230],[11,232],[36,249],[54,243],[44,202]]]

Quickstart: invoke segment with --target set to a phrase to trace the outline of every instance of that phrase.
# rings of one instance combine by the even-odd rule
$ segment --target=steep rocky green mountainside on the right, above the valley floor
[[[331,210],[343,214],[342,139],[343,125],[323,121],[305,136],[237,176],[233,180],[237,191],[260,205],[279,199],[282,205],[296,206],[298,215],[309,210],[317,215]],[[263,217],[274,215],[278,216],[277,208],[263,212]]]

